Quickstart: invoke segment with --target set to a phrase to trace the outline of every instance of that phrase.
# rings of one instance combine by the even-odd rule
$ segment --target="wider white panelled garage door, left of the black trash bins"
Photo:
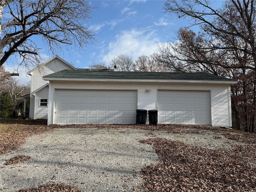
[[[55,124],[135,124],[137,91],[56,90]]]

